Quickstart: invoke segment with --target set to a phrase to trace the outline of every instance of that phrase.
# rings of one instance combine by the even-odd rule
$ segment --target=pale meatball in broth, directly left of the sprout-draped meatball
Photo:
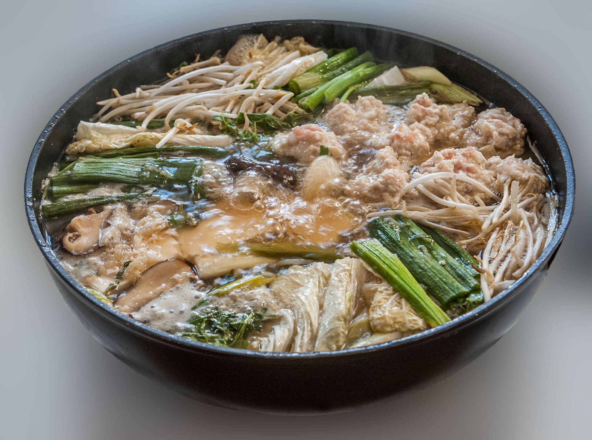
[[[352,180],[351,196],[366,203],[390,202],[407,183],[409,175],[399,168],[392,147],[378,150]]]

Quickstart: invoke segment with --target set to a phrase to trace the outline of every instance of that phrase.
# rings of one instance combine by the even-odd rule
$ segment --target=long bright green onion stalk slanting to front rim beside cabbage
[[[450,321],[446,313],[424,292],[401,260],[377,240],[353,241],[349,247],[400,293],[430,326],[435,327]]]

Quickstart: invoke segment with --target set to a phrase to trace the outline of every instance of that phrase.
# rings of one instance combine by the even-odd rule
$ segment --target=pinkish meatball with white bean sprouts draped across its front
[[[486,167],[487,160],[475,148],[446,148],[446,150],[435,151],[422,164],[422,173],[451,172],[462,173],[466,176],[481,182],[489,189],[496,191],[496,173]],[[482,191],[474,185],[465,182],[456,182],[456,190],[463,196],[474,198],[479,196],[483,201],[489,199]]]

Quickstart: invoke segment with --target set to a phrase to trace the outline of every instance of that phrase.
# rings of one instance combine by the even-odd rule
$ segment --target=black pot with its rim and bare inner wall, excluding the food
[[[549,166],[559,198],[558,230],[526,276],[506,292],[452,322],[373,347],[311,354],[259,353],[213,347],[157,331],[121,316],[86,293],[60,266],[38,222],[41,180],[81,119],[111,88],[133,90],[159,80],[196,52],[228,50],[239,35],[302,35],[327,47],[357,46],[400,65],[430,65],[504,106],[526,125]],[[525,88],[471,54],[419,35],[365,24],[275,21],[190,35],[147,50],[92,80],[54,115],[28,164],[25,202],[31,231],[70,309],[92,335],[135,370],[171,389],[213,405],[269,413],[352,409],[429,386],[475,360],[519,318],[544,279],[570,222],[575,180],[570,153],[551,116]]]

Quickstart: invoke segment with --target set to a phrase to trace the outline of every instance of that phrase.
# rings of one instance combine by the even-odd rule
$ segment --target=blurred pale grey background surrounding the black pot
[[[582,5],[516,0],[6,2],[0,28],[0,438],[506,440],[590,435],[592,8]],[[211,407],[135,373],[95,342],[67,309],[23,210],[22,182],[31,148],[53,113],[86,82],[173,38],[287,18],[385,25],[476,54],[540,99],[562,128],[577,168],[574,222],[548,279],[506,337],[436,386],[339,415],[278,417]],[[396,371],[396,365],[391,367]],[[200,374],[200,365],[194,374]]]

